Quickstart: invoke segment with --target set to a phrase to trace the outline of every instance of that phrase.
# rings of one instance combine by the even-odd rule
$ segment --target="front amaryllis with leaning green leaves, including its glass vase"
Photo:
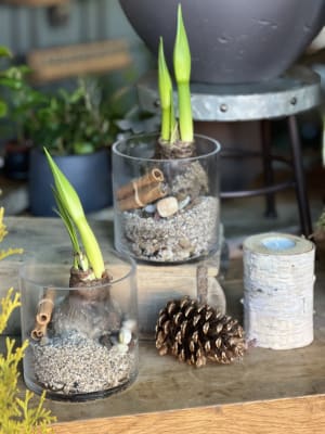
[[[21,269],[24,378],[54,399],[98,398],[138,373],[135,264],[113,252],[105,261],[76,190],[44,153],[72,246],[62,246],[60,264],[29,257]]]

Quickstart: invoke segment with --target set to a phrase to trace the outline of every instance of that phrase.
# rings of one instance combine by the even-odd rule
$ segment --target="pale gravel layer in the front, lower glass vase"
[[[32,349],[37,381],[63,395],[105,392],[127,383],[135,369],[135,355],[125,347],[108,348],[78,333],[34,343]]]

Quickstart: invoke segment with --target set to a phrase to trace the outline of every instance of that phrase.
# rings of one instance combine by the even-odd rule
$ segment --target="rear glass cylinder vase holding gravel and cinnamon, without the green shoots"
[[[195,136],[193,156],[159,155],[157,133],[113,145],[115,248],[179,264],[220,248],[220,144]]]

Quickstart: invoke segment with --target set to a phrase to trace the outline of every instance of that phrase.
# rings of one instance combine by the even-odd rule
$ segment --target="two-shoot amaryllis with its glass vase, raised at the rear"
[[[220,145],[193,132],[191,52],[181,5],[173,60],[178,110],[160,39],[161,129],[113,146],[115,246],[155,263],[182,263],[219,250]]]

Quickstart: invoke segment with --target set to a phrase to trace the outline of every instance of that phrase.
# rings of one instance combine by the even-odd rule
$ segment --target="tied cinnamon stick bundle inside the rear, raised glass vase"
[[[147,187],[144,189],[134,189],[133,194],[122,199],[118,202],[120,210],[142,208],[148,203],[155,202],[160,197],[166,196],[167,189],[162,183],[155,184],[154,187]]]

